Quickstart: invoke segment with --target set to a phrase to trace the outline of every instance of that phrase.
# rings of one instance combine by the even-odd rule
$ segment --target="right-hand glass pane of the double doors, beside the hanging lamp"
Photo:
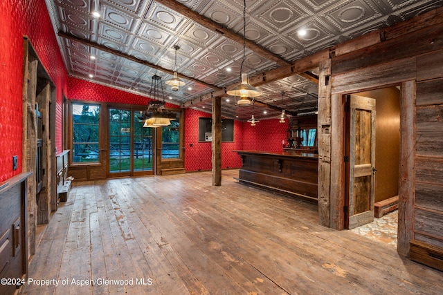
[[[152,171],[154,162],[152,149],[152,133],[154,129],[143,127],[143,121],[138,119],[142,111],[134,111],[134,171]]]

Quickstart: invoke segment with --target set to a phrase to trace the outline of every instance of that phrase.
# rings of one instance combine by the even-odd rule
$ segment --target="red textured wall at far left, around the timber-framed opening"
[[[0,182],[21,173],[23,36],[27,35],[57,87],[57,151],[62,151],[62,93],[66,69],[44,0],[0,1]],[[18,169],[12,171],[12,155]]]

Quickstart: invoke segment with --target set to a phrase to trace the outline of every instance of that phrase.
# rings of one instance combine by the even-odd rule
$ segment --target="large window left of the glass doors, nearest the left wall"
[[[100,106],[72,104],[73,162],[98,162]]]

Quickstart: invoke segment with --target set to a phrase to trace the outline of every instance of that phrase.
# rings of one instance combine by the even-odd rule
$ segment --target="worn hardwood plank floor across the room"
[[[24,294],[443,294],[442,272],[237,175],[73,184],[30,261],[47,285]]]

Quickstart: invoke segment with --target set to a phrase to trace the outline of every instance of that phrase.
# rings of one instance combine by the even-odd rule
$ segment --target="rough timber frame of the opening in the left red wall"
[[[37,225],[49,222],[51,211],[57,209],[55,173],[55,84],[39,60],[28,37],[24,37],[22,91],[22,171],[36,172],[37,125],[35,108],[39,103],[42,112],[42,191],[37,206],[37,182],[35,175],[28,179],[28,254],[35,254]]]

